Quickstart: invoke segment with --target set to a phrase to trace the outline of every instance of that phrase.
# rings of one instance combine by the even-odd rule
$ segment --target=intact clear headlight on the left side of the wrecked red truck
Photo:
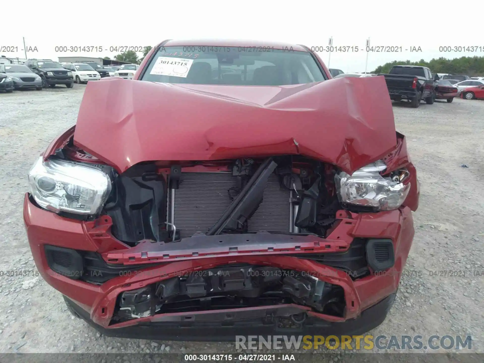
[[[101,170],[42,157],[30,169],[29,184],[37,204],[56,213],[98,214],[111,191]]]

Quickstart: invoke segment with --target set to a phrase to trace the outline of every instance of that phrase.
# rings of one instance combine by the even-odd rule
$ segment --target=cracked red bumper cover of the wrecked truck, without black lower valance
[[[198,256],[193,256],[188,246],[184,251],[177,252],[172,250],[166,253],[164,249],[170,246],[170,243],[163,246],[160,243],[144,242],[139,243],[136,247],[129,248],[109,233],[110,224],[108,217],[103,216],[95,222],[78,221],[64,218],[53,212],[38,208],[30,201],[28,194],[25,195],[24,199],[25,227],[30,249],[39,272],[49,285],[59,290],[79,308],[84,310],[83,314],[87,314],[86,317],[89,317],[94,324],[106,330],[138,326],[150,321],[151,323],[156,322],[156,324],[159,324],[160,319],[163,320],[173,315],[159,314],[154,317],[139,318],[109,325],[114,313],[116,298],[123,291],[150,285],[154,282],[169,278],[171,276],[170,274],[177,274],[182,271],[210,269],[231,262],[269,265],[316,273],[319,279],[334,285],[339,285],[344,289],[347,308],[343,318],[323,315],[312,311],[308,312],[308,315],[325,322],[325,324],[329,322],[341,323],[346,320],[358,318],[364,310],[382,301],[396,291],[414,235],[413,220],[408,207],[401,210],[379,213],[358,214],[340,211],[337,217],[340,218],[340,223],[333,229],[327,239],[311,236],[314,241],[307,241],[307,236],[290,236],[289,238],[292,237],[294,239],[292,243],[297,244],[293,250],[289,242],[285,243],[282,241],[287,236],[269,234],[272,238],[280,236],[282,247],[279,249],[272,247],[271,249],[271,247],[268,247],[269,244],[267,242],[260,240],[259,242],[262,242],[264,245],[261,248],[265,248],[265,251],[259,248],[254,253],[252,252],[254,251],[253,245],[251,245],[254,241],[250,241],[249,238],[249,236],[254,237],[254,235],[244,235],[244,238],[249,240],[249,244],[245,245],[245,247],[248,248],[250,246],[252,248],[251,252],[239,241],[240,251],[234,251],[233,247],[228,247],[226,251],[215,250],[205,255],[200,251]],[[260,234],[260,236],[262,235],[266,236],[268,234]],[[197,238],[203,237],[192,237],[186,240],[194,242],[194,239]],[[225,241],[228,237],[224,235],[217,236],[217,238],[220,241]],[[316,263],[309,259],[304,259],[305,252],[342,252],[345,248],[348,249],[354,238],[391,239],[395,251],[394,266],[385,274],[370,275],[353,281],[343,271]],[[178,245],[180,243],[177,242]],[[305,250],[303,248],[305,243],[311,243],[312,248]],[[109,263],[121,264],[121,266],[146,264],[146,269],[141,270],[142,273],[132,274],[130,276],[117,276],[102,285],[72,280],[53,272],[49,268],[45,256],[45,244],[94,251],[100,253]],[[270,244],[274,245],[273,242]],[[219,247],[217,246],[217,248]],[[288,253],[293,256],[286,256]],[[294,257],[294,254],[298,254],[298,257]],[[163,255],[169,256],[166,261],[163,261]],[[161,258],[158,259],[156,256],[161,256]],[[153,267],[153,262],[166,263]],[[267,307],[264,308],[267,309]],[[243,309],[236,310],[241,311]],[[257,308],[252,308],[251,310],[257,310]],[[196,315],[208,313],[213,314],[213,311],[198,312]],[[194,315],[193,312],[191,314]],[[180,325],[181,322],[179,321],[176,324]],[[139,337],[138,334],[136,336]],[[183,337],[183,339],[187,338]]]

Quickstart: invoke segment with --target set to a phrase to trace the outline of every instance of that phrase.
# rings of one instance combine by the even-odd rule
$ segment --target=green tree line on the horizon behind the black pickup
[[[432,73],[449,73],[451,75],[466,75],[470,77],[484,75],[484,57],[461,57],[447,59],[433,58],[431,61],[393,61],[378,66],[371,73],[388,73],[394,65],[420,65],[428,67]]]

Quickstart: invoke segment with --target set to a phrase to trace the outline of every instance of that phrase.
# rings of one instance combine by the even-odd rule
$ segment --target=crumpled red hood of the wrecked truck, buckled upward
[[[396,146],[382,76],[290,86],[89,82],[74,144],[123,172],[154,160],[302,154],[348,173]]]

